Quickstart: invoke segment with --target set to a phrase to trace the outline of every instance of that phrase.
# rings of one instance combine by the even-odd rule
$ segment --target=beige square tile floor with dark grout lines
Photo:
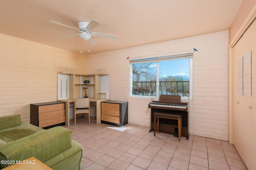
[[[91,124],[80,117],[70,121],[72,139],[83,147],[83,170],[247,170],[233,145],[190,135],[189,140],[127,124]],[[123,131],[122,131],[123,130]]]

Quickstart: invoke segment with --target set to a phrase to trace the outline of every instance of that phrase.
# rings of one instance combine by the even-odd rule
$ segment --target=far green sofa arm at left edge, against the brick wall
[[[0,117],[0,130],[20,125],[20,115]]]

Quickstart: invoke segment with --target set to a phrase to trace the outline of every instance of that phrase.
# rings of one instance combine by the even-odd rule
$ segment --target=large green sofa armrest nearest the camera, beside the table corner
[[[0,160],[24,160],[34,156],[41,162],[71,147],[71,131],[53,127],[0,147]],[[9,166],[0,164],[1,166]]]

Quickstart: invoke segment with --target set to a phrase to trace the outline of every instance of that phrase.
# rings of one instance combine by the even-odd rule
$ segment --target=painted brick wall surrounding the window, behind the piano
[[[129,123],[150,126],[150,98],[129,96],[128,56],[142,57],[193,51],[193,100],[190,134],[228,141],[228,31],[120,49],[87,57],[87,72],[106,68],[110,99],[128,101]]]

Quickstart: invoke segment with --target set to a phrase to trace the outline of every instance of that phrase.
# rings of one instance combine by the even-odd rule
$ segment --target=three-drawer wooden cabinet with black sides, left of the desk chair
[[[30,104],[30,123],[41,128],[65,124],[65,103]]]

